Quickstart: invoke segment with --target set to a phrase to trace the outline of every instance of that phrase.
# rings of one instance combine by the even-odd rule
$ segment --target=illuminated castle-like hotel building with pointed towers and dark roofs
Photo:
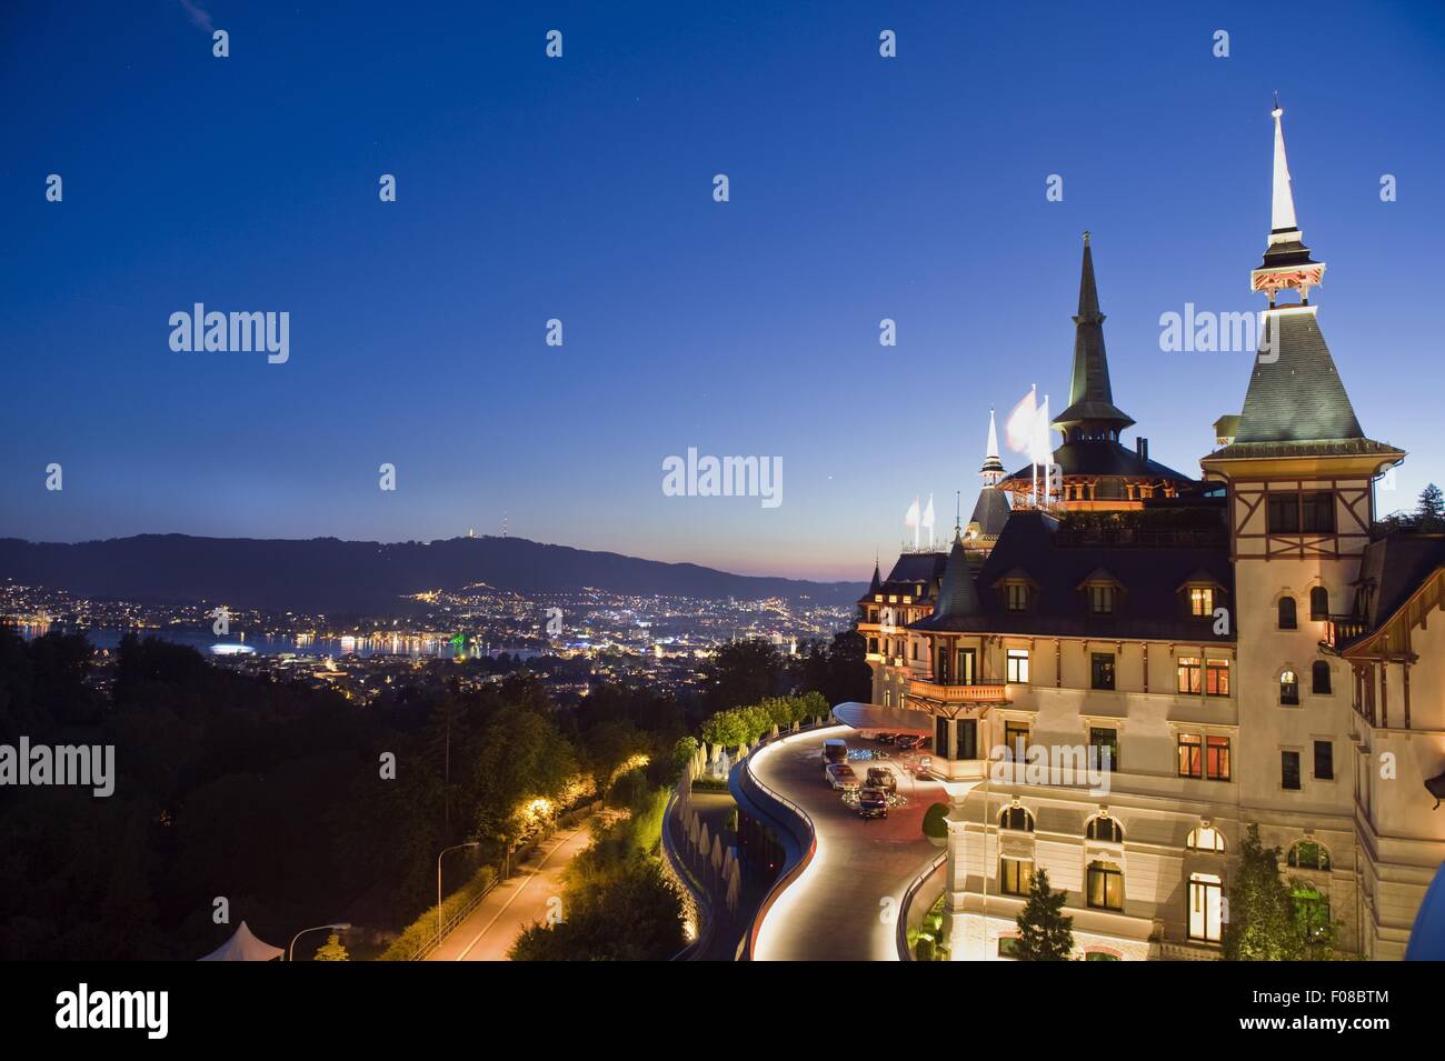
[[[1445,862],[1445,543],[1374,521],[1405,453],[1366,437],[1319,332],[1280,117],[1251,273],[1270,357],[1202,475],[1120,439],[1085,234],[1046,501],[990,423],[967,530],[858,602],[873,702],[929,716],[948,781],[955,960],[1009,956],[1038,869],[1079,957],[1215,959],[1251,824],[1337,953],[1399,959]],[[1091,754],[1103,784],[1027,772]]]

